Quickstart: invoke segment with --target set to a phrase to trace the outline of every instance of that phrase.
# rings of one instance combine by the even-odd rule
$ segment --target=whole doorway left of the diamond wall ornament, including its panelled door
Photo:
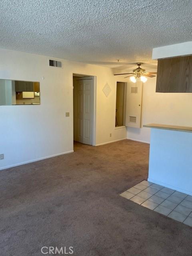
[[[73,74],[74,141],[95,145],[95,77]]]

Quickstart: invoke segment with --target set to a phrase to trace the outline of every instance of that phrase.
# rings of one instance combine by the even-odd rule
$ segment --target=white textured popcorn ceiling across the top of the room
[[[1,0],[0,47],[152,68],[152,48],[192,40],[191,0]],[[120,63],[117,63],[117,59]]]

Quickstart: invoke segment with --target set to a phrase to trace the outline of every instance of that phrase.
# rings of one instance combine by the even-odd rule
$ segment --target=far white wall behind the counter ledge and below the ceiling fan
[[[192,126],[192,93],[157,93],[156,77],[143,84],[142,125]],[[127,138],[150,142],[150,128],[127,128]]]

